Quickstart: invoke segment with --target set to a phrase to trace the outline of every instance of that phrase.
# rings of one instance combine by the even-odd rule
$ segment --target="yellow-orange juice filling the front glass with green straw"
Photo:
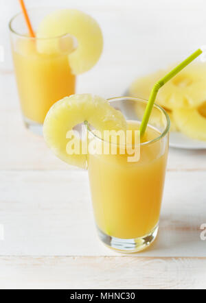
[[[128,129],[139,123],[128,121]],[[143,142],[161,134],[148,127]],[[168,138],[141,145],[138,162],[128,155],[89,155],[91,196],[98,228],[119,239],[135,239],[150,234],[159,222]]]

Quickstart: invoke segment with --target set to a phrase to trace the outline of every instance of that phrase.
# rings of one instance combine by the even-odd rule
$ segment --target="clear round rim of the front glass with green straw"
[[[146,100],[146,99],[141,99],[141,98],[138,98],[138,97],[126,97],[126,96],[109,98],[109,99],[107,99],[107,101],[109,103],[112,103],[113,101],[117,101],[118,99],[129,99],[129,100],[134,100],[134,101],[141,101],[141,103],[148,104],[148,100]],[[161,106],[159,106],[158,104],[154,104],[154,107],[159,109],[165,115],[165,118],[166,118],[165,129],[163,130],[163,132],[161,132],[160,136],[157,136],[157,138],[152,139],[150,141],[143,142],[143,143],[139,143],[138,146],[139,145],[140,146],[145,146],[145,145],[150,145],[152,143],[155,143],[155,142],[161,140],[161,138],[163,138],[164,136],[166,136],[168,134],[169,130],[170,130],[170,117],[169,117],[168,113]],[[114,143],[104,141],[104,139],[102,139],[99,136],[97,136],[96,134],[94,134],[93,131],[91,130],[91,128],[89,128],[89,125],[88,125],[87,121],[84,121],[84,125],[86,126],[89,134],[91,134],[93,137],[97,138],[98,140],[100,140],[102,142],[105,142],[105,143],[108,143],[110,145],[116,145],[117,147],[122,146],[122,145],[118,145],[118,144],[114,144]],[[124,146],[126,146],[126,145],[124,145]]]

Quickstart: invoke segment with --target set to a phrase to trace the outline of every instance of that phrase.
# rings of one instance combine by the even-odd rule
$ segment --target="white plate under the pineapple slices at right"
[[[206,149],[206,142],[194,140],[181,134],[181,132],[170,132],[170,147],[181,149]]]

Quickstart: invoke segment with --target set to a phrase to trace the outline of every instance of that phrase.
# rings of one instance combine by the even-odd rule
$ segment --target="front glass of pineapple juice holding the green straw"
[[[129,130],[139,130],[147,101],[132,97],[109,101],[124,113]],[[168,114],[155,105],[137,162],[128,162],[126,153],[88,155],[95,222],[100,239],[108,247],[139,252],[157,237],[169,129]],[[102,141],[91,129],[88,132],[90,140]]]

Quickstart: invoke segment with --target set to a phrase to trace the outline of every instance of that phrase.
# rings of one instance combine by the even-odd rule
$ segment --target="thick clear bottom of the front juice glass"
[[[117,250],[119,252],[124,253],[134,253],[141,252],[141,250],[145,250],[149,247],[152,242],[155,241],[158,233],[159,225],[155,226],[155,228],[150,232],[150,234],[146,234],[144,237],[139,237],[136,239],[119,239],[115,237],[108,236],[108,234],[104,234],[102,230],[98,228],[98,235],[100,240],[109,248],[113,250]]]

